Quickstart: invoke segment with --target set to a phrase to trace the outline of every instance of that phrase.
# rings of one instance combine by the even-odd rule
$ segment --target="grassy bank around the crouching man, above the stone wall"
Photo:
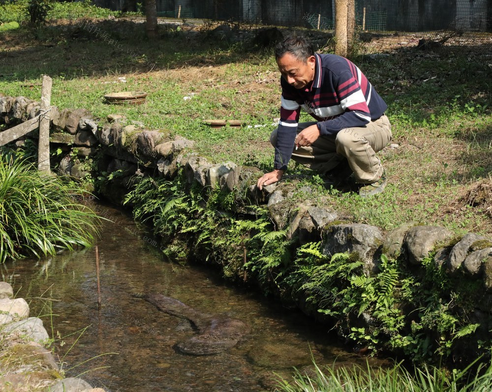
[[[161,26],[148,42],[144,26],[130,20],[78,20],[38,30],[2,33],[0,92],[39,99],[40,75],[54,78],[52,102],[87,108],[94,116],[122,113],[146,127],[167,128],[197,142],[199,154],[269,170],[269,134],[278,117],[278,72],[269,49],[255,46],[245,27],[239,41],[220,39],[212,24]],[[314,36],[321,52],[329,34]],[[381,49],[381,48],[380,48]],[[384,48],[383,48],[384,49]],[[441,52],[402,49],[355,61],[389,104],[393,143],[381,158],[389,173],[382,195],[315,189],[348,221],[391,230],[418,220],[457,234],[492,233],[491,67],[473,48]],[[470,52],[472,51],[472,52]],[[110,92],[148,92],[141,106],[104,103]],[[206,119],[244,121],[241,129],[212,129]],[[308,117],[304,117],[308,120]],[[294,176],[295,177],[295,176]]]

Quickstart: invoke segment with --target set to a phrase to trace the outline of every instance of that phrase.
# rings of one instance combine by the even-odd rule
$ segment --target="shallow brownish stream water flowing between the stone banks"
[[[231,287],[211,268],[162,260],[159,247],[125,212],[98,205],[111,221],[98,241],[98,309],[95,248],[42,260],[1,265],[3,280],[41,317],[67,376],[81,375],[106,391],[268,391],[274,373],[284,377],[312,364],[365,365],[302,313],[281,308],[251,291]],[[207,313],[249,325],[223,353],[193,356],[176,345],[197,332],[182,318],[159,311],[135,294],[159,293]],[[383,361],[369,359],[371,366]]]

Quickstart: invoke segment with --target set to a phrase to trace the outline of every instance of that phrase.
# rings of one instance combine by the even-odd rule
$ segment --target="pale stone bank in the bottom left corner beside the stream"
[[[43,322],[29,317],[29,305],[13,298],[12,286],[0,282],[0,391],[104,392],[79,378],[63,378],[49,346]]]

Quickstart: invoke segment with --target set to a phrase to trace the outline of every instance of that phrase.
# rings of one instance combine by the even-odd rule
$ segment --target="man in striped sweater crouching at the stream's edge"
[[[288,36],[275,48],[282,88],[280,121],[270,141],[274,171],[258,188],[279,181],[292,158],[329,177],[350,167],[359,194],[383,191],[386,171],[376,152],[392,138],[386,103],[350,60],[314,53],[301,36]],[[299,123],[303,108],[316,121]]]

